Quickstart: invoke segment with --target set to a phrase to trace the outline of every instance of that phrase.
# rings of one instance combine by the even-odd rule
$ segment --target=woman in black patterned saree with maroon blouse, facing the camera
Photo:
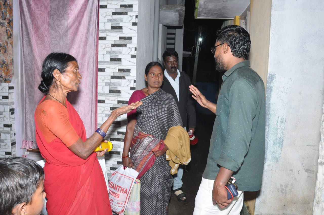
[[[173,178],[166,160],[168,147],[163,140],[169,128],[182,125],[182,120],[173,96],[160,89],[160,63],[150,62],[146,66],[145,81],[147,87],[134,91],[129,99],[129,103],[141,100],[143,105],[127,114],[122,164],[139,172],[141,215],[166,215]]]

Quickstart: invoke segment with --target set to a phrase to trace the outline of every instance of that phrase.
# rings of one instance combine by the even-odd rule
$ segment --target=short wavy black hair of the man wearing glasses
[[[216,32],[217,41],[227,43],[235,57],[247,60],[250,53],[251,40],[249,33],[238,25],[228,25]]]

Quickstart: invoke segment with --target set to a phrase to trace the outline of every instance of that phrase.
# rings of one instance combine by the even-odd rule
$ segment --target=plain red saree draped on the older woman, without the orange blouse
[[[80,116],[68,101],[66,106],[72,127],[85,141],[86,131]],[[112,214],[96,153],[84,160],[70,151],[59,138],[47,142],[38,127],[36,114],[35,123],[36,141],[42,157],[46,160],[44,186],[48,214]]]

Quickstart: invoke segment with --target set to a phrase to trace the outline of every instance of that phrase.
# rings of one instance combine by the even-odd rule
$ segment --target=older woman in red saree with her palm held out
[[[46,94],[35,111],[36,140],[46,160],[44,187],[49,215],[112,214],[108,191],[94,149],[113,121],[141,105],[119,107],[86,138],[83,122],[67,101],[77,91],[82,76],[76,59],[66,53],[49,54],[42,65],[39,89]],[[85,104],[87,105],[87,104]]]

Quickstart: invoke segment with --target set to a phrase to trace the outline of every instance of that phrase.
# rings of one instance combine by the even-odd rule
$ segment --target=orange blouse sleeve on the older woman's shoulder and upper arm
[[[37,106],[35,117],[41,133],[48,142],[58,137],[69,147],[80,138],[69,121],[67,109],[56,101],[43,101]]]

